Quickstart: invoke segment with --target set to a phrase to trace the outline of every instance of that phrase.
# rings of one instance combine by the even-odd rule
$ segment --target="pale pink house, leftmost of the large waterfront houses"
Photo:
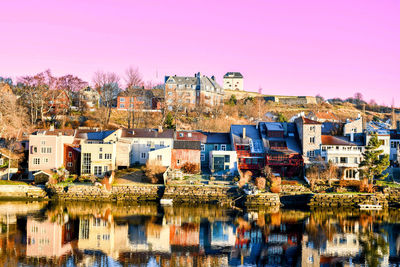
[[[72,144],[75,130],[41,130],[29,135],[28,171],[58,169],[64,165],[64,144]]]

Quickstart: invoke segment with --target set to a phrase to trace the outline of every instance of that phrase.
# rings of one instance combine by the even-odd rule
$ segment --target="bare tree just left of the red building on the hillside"
[[[113,101],[120,92],[119,82],[119,76],[113,72],[98,71],[94,74],[94,88],[99,92],[101,106],[105,109],[105,117],[102,121],[103,126],[108,125],[110,122]]]

